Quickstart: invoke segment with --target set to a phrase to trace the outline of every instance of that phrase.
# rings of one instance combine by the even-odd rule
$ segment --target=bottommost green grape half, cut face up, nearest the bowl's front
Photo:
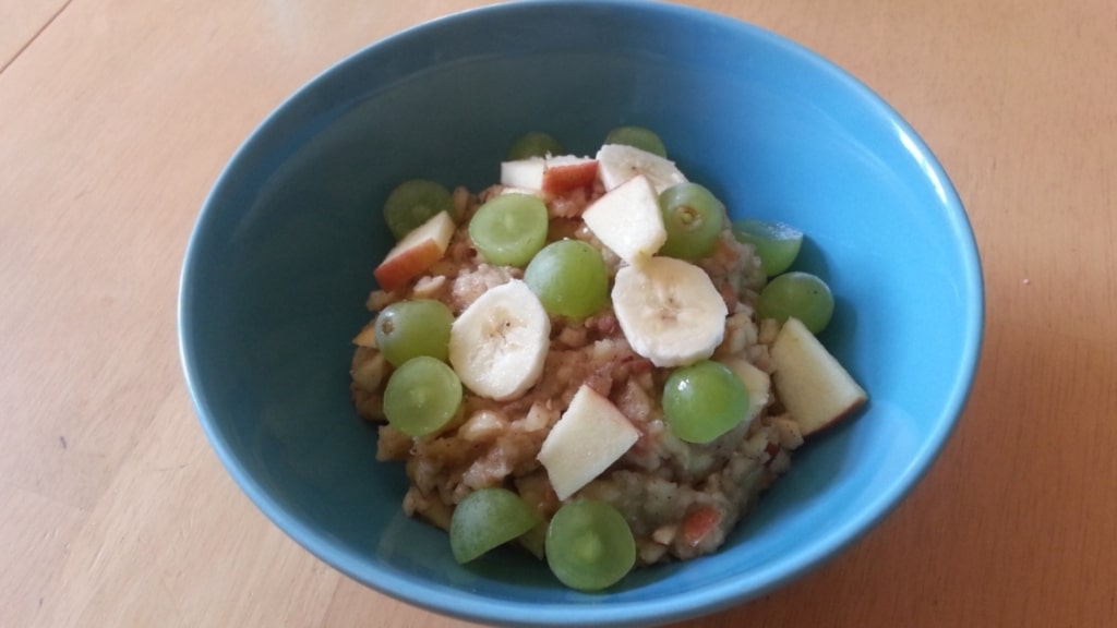
[[[558,580],[580,591],[615,584],[636,564],[632,529],[614,506],[594,499],[564,504],[547,527],[546,556]]]

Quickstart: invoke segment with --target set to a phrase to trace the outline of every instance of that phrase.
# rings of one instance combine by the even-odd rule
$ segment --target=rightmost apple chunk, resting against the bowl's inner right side
[[[780,400],[803,436],[851,415],[868,401],[865,389],[798,318],[787,318],[771,348]]]

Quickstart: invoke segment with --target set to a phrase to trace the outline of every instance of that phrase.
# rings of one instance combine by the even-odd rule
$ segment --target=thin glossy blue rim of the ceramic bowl
[[[237,460],[232,446],[217,428],[213,419],[216,412],[210,406],[206,390],[199,379],[198,356],[194,352],[195,327],[190,311],[193,286],[198,282],[194,268],[201,255],[199,249],[202,246],[201,240],[203,239],[204,223],[208,219],[212,218],[214,211],[212,207],[217,203],[221,191],[232,184],[232,171],[236,169],[236,164],[244,160],[247,154],[252,152],[252,148],[261,142],[261,137],[267,135],[267,130],[276,123],[277,117],[288,111],[293,103],[309,98],[311,94],[322,83],[328,80],[330,76],[337,74],[344,67],[357,64],[361,58],[373,55],[385,47],[394,46],[397,42],[421,37],[423,32],[432,28],[446,28],[459,23],[467,25],[474,20],[485,20],[496,13],[531,12],[540,9],[572,7],[622,8],[626,11],[658,13],[659,17],[666,19],[706,20],[718,29],[725,29],[743,37],[753,38],[765,46],[779,48],[783,54],[796,57],[799,60],[817,67],[828,75],[828,77],[844,84],[851,94],[858,96],[859,101],[863,102],[868,107],[873,108],[895,126],[905,146],[923,165],[928,179],[935,183],[941,203],[947,210],[948,223],[958,244],[957,253],[961,256],[961,263],[965,270],[963,287],[966,294],[964,299],[966,303],[972,304],[964,326],[963,359],[951,384],[947,401],[944,403],[943,416],[945,420],[935,424],[935,429],[929,434],[926,446],[920,449],[919,456],[910,460],[908,466],[909,473],[906,474],[903,480],[896,484],[891,491],[878,495],[871,507],[860,512],[858,516],[850,518],[844,525],[833,529],[825,536],[827,542],[815,545],[814,551],[799,555],[792,561],[781,561],[774,567],[765,565],[757,568],[748,574],[729,578],[701,590],[687,591],[685,596],[669,596],[638,602],[609,602],[605,605],[541,605],[480,598],[464,590],[447,591],[441,587],[431,588],[419,578],[413,578],[395,570],[386,570],[380,565],[373,567],[370,577],[370,570],[366,564],[347,555],[327,535],[316,532],[296,517],[285,513],[281,505],[269,495],[268,489],[254,478]],[[926,475],[944,448],[961,419],[973,388],[974,373],[981,358],[985,316],[981,258],[972,225],[961,198],[930,149],[891,105],[837,64],[803,45],[763,27],[704,9],[642,0],[533,0],[531,2],[478,7],[449,13],[407,28],[389,37],[373,41],[366,47],[328,66],[267,114],[262,122],[237,149],[218,175],[213,188],[202,204],[198,221],[190,235],[180,276],[176,313],[181,365],[185,377],[187,389],[198,415],[199,422],[226,470],[232,476],[233,480],[249,499],[275,525],[309,553],[334,569],[394,599],[432,612],[470,621],[532,626],[581,626],[588,624],[598,626],[648,626],[679,621],[755,599],[783,587],[790,581],[799,579],[838,555],[843,549],[872,530],[904,501],[904,497]]]

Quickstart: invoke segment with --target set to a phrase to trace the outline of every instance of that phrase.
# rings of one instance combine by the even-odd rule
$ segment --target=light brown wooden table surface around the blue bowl
[[[0,0],[0,626],[464,627],[364,589],[249,503],[175,336],[222,164],[334,61],[470,0]],[[983,256],[970,406],[892,516],[686,624],[1117,625],[1117,2],[701,0],[878,91]]]

